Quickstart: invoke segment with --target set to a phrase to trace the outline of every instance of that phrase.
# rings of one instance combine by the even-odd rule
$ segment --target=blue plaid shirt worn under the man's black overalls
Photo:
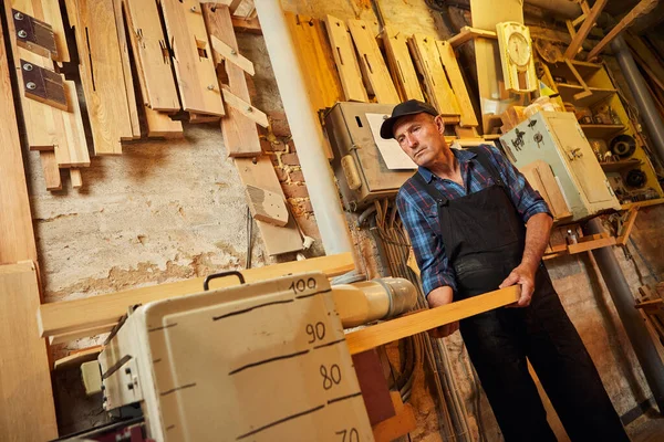
[[[551,215],[547,202],[498,149],[488,145],[481,145],[480,149],[485,150],[489,161],[499,171],[523,223],[528,222],[530,217],[536,213]],[[466,189],[469,189],[470,193],[475,193],[495,183],[490,173],[477,160],[476,154],[458,149],[452,149],[452,151],[459,161],[465,188],[452,180],[438,178],[426,168],[419,168],[419,173],[424,179],[427,182],[433,180],[436,189],[445,198],[454,200],[455,198],[465,197],[467,194]],[[417,186],[414,178],[409,178],[401,187],[396,196],[396,204],[411,238],[417,265],[422,272],[424,293],[428,296],[434,288],[447,285],[456,294],[456,277],[454,269],[449,265],[445,254],[436,201]]]

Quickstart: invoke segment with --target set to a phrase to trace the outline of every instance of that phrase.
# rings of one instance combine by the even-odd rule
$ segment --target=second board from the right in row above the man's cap
[[[459,105],[440,63],[436,40],[428,35],[414,34],[408,39],[408,44],[417,70],[424,76],[428,102],[443,115],[459,115]]]

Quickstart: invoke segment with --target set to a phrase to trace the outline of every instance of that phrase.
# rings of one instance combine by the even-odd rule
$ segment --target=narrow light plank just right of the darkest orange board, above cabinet
[[[355,50],[345,23],[335,17],[325,15],[325,28],[346,101],[369,103],[366,90],[362,84],[360,65],[355,59]]]

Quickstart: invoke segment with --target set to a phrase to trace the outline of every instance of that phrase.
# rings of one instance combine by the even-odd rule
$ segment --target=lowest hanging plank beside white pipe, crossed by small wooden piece
[[[256,159],[256,162],[251,158],[236,158],[235,162],[245,186],[260,187],[286,199],[269,158],[261,156]],[[293,217],[289,217],[288,224],[283,228],[262,221],[256,221],[256,223],[261,232],[268,255],[273,256],[303,249],[302,238]]]

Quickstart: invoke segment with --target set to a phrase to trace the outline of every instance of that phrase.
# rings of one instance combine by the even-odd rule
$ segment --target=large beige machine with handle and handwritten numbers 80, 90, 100
[[[241,284],[208,290],[215,277]],[[107,338],[103,407],[143,417],[146,439],[124,440],[373,440],[344,327],[409,311],[411,282],[330,286],[312,272],[245,284],[226,272],[204,287],[133,308]]]

